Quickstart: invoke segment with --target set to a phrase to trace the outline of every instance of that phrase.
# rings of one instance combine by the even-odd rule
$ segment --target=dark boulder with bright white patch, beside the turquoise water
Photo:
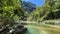
[[[15,28],[12,28],[9,33],[11,34],[21,34],[27,31],[27,28],[25,28],[23,25],[16,25]]]

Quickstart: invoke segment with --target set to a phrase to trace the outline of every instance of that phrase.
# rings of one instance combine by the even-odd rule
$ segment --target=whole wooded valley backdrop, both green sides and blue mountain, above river
[[[0,26],[13,25],[19,20],[36,23],[60,20],[60,0],[45,0],[43,6],[22,0],[0,0]]]

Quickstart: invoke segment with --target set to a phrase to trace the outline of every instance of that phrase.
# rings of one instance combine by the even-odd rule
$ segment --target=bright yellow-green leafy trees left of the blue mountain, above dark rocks
[[[21,12],[21,0],[0,0],[0,21],[6,24],[18,20],[14,10]]]

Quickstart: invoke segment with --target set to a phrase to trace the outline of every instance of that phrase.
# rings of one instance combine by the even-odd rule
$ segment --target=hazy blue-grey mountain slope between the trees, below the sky
[[[22,8],[24,11],[27,11],[29,14],[33,11],[36,10],[36,5],[31,3],[31,2],[25,2],[25,1],[21,1],[22,2]]]

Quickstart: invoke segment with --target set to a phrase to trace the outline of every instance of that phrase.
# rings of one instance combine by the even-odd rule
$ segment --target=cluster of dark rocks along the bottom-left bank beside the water
[[[3,33],[4,31],[9,32],[10,34],[21,34],[27,31],[27,28],[23,25],[13,25],[13,26],[1,26],[0,27],[0,33]]]

